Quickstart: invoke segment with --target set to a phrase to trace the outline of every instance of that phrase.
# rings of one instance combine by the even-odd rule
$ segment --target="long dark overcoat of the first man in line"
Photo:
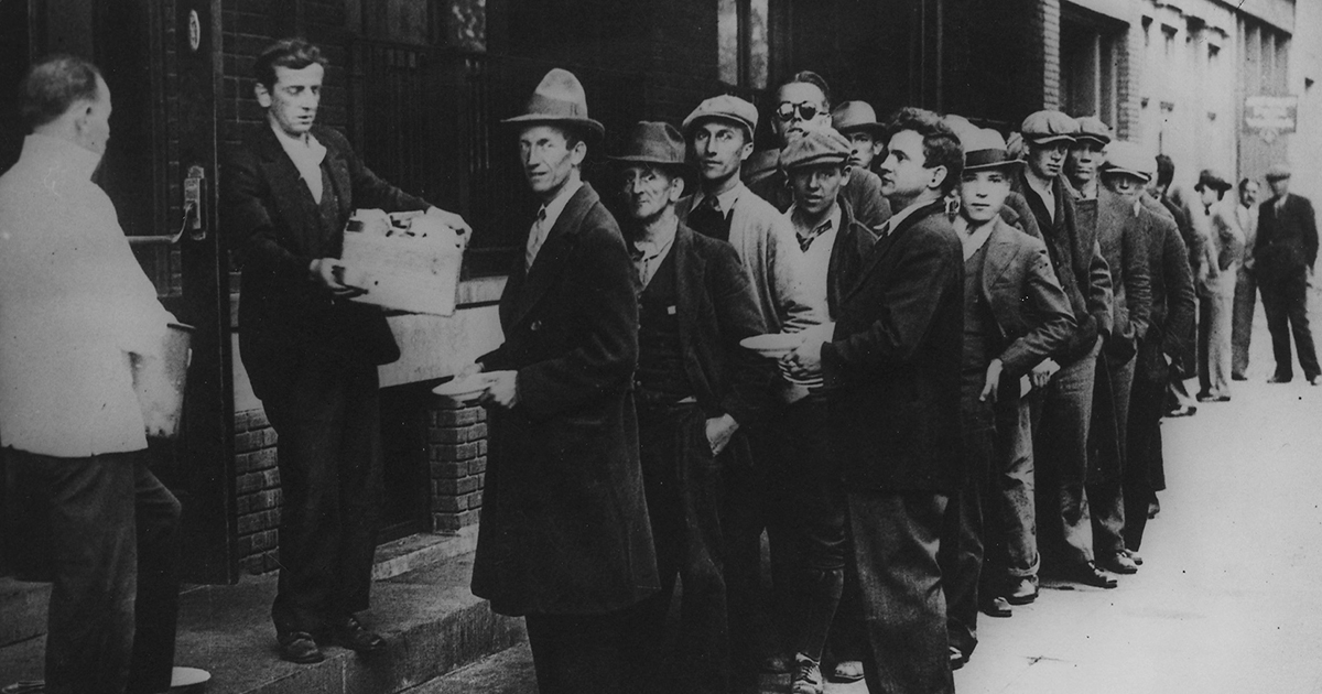
[[[502,615],[604,613],[658,587],[632,378],[637,279],[591,185],[570,198],[500,301],[518,403],[489,418],[473,594]]]

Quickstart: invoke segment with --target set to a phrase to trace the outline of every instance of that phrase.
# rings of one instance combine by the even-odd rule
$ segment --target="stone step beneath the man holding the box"
[[[268,616],[275,576],[190,590],[175,664],[209,670],[208,694],[402,691],[525,640],[524,620],[492,613],[469,592],[471,575],[472,554],[463,554],[375,582],[360,619],[389,648],[371,657],[328,648],[316,665],[279,660]],[[41,677],[44,641],[0,648],[0,686]]]

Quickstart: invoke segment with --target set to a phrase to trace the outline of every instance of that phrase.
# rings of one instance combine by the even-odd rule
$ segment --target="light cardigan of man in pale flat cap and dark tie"
[[[681,222],[695,198],[687,196],[676,206]],[[730,215],[730,245],[748,271],[767,330],[797,332],[821,323],[800,282],[801,254],[789,219],[751,190],[739,194]]]

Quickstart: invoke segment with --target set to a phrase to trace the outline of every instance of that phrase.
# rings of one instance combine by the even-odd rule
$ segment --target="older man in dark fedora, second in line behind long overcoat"
[[[767,402],[773,367],[739,341],[765,332],[734,247],[680,222],[685,143],[668,123],[635,126],[611,157],[628,214],[625,235],[639,274],[639,367],[633,395],[648,514],[661,591],[629,620],[640,666],[658,690],[730,690],[722,472],[751,464],[744,427]],[[674,591],[682,682],[662,673],[661,635]]]

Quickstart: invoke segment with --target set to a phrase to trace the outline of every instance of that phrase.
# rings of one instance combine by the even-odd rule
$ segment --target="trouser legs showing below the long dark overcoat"
[[[624,683],[624,613],[526,615],[539,694],[633,693]]]

